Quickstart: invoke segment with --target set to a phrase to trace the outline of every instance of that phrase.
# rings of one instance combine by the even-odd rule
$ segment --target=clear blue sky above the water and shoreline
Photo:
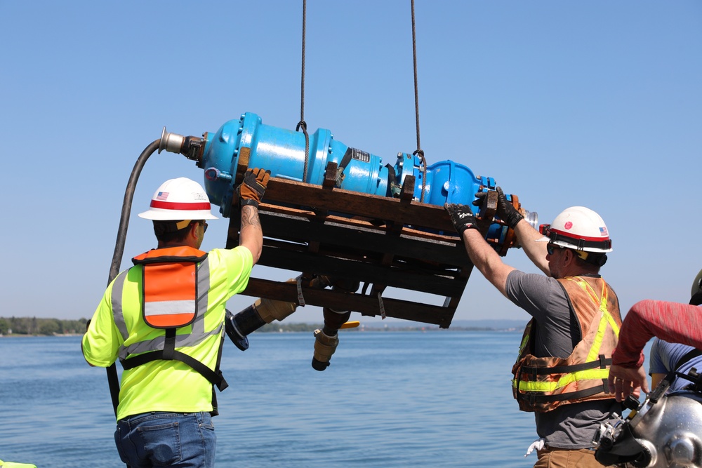
[[[416,149],[410,5],[307,1],[310,133],[328,128],[384,163]],[[415,11],[428,163],[494,178],[541,222],[596,210],[614,243],[602,274],[624,310],[687,301],[702,268],[702,3],[416,0]],[[162,127],[201,135],[243,112],[300,120],[302,1],[0,0],[0,16],[0,316],[93,314],[126,182]],[[147,162],[124,267],[154,247],[136,213],[178,176],[202,171],[166,152]],[[226,228],[211,222],[203,248],[223,246]],[[536,272],[521,250],[504,260]],[[475,270],[454,319],[486,318],[528,317]],[[289,320],[321,321],[321,309]]]

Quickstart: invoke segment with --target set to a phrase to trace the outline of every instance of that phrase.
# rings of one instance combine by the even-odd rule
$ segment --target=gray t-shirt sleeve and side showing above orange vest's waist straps
[[[534,317],[534,355],[570,356],[574,345],[580,341],[580,327],[558,281],[543,274],[512,270],[507,276],[505,289],[515,305]]]

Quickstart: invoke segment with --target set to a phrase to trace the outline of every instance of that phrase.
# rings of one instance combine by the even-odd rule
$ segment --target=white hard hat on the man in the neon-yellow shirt
[[[216,220],[201,185],[185,177],[166,180],[151,198],[151,208],[140,218],[156,221]]]

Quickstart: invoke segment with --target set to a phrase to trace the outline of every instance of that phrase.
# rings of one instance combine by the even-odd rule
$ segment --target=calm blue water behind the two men
[[[220,467],[531,467],[533,416],[510,368],[520,333],[341,333],[331,367],[310,366],[312,333],[225,343]],[[102,368],[79,337],[0,338],[0,459],[37,467],[124,467]],[[119,368],[119,366],[118,366]]]

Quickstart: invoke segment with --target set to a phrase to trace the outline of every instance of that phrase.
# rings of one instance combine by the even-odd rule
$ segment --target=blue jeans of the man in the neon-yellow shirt
[[[215,466],[210,413],[143,413],[117,422],[114,443],[131,468]]]

